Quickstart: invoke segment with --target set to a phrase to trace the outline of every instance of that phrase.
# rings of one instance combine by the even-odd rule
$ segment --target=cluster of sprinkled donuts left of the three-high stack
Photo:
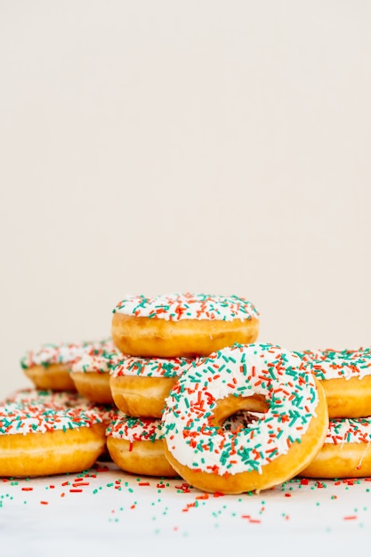
[[[0,405],[0,476],[82,472],[106,453],[117,415],[109,369],[119,358],[110,340],[28,351],[20,365],[35,388]]]

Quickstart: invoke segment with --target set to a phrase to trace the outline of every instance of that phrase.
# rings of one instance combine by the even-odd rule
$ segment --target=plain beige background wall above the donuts
[[[369,345],[367,0],[0,0],[0,395],[126,294]]]

